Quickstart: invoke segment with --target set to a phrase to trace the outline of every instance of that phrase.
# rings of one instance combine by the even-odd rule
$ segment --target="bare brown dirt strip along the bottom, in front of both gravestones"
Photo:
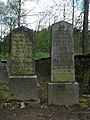
[[[90,120],[90,110],[75,106],[26,106],[0,109],[0,120]]]

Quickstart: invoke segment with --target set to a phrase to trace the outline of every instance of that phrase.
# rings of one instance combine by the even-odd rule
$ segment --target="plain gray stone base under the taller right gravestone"
[[[49,83],[49,105],[74,105],[79,100],[78,83]]]

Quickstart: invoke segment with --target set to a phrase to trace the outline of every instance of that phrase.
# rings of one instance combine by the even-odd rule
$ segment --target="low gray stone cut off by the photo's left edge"
[[[0,63],[0,83],[8,83],[7,63],[5,60]]]

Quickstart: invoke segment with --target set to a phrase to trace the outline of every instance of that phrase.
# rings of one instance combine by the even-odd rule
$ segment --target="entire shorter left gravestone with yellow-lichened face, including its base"
[[[13,99],[37,100],[33,30],[21,26],[12,30],[11,36],[10,95]]]

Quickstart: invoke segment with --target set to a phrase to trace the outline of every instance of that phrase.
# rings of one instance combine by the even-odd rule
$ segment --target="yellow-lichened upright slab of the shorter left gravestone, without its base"
[[[35,74],[33,31],[21,26],[11,34],[10,75]]]

